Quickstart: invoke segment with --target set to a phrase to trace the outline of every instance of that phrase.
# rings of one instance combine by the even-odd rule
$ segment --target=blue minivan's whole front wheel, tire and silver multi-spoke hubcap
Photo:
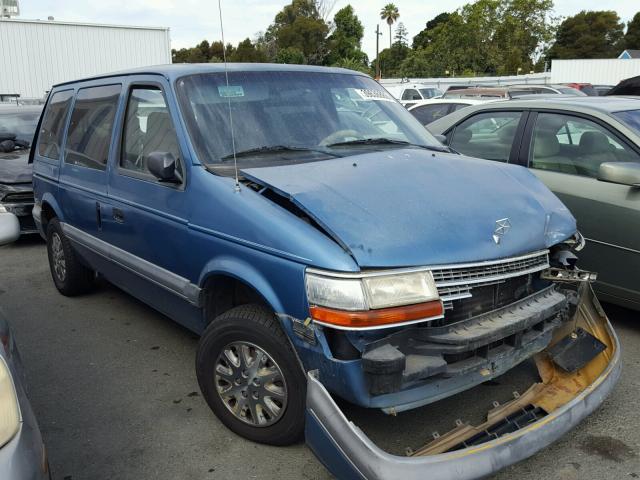
[[[256,366],[262,354],[269,358]],[[214,319],[198,344],[196,374],[209,407],[233,432],[270,445],[302,439],[306,377],[268,308],[241,305]]]

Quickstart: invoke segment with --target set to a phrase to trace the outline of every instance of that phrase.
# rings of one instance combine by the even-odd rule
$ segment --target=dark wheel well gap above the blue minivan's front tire
[[[228,275],[209,277],[205,282],[203,292],[207,324],[239,305],[259,304],[271,309],[271,305],[256,289]]]

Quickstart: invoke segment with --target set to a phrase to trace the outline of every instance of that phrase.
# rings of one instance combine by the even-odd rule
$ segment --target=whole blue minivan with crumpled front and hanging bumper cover
[[[619,374],[569,211],[526,169],[441,145],[366,75],[208,64],[63,83],[33,145],[57,289],[100,275],[200,334],[219,419],[274,445],[306,435],[339,478],[487,475],[579,422]],[[534,356],[540,383],[489,433],[407,458],[334,401],[398,414]]]

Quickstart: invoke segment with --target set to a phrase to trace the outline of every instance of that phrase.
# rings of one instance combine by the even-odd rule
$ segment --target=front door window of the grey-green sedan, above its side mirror
[[[598,177],[603,162],[638,162],[636,152],[594,121],[540,113],[529,149],[531,168]]]

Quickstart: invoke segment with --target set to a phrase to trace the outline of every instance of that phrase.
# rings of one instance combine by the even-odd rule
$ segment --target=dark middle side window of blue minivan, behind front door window
[[[83,88],[71,113],[65,162],[105,170],[120,85]]]

